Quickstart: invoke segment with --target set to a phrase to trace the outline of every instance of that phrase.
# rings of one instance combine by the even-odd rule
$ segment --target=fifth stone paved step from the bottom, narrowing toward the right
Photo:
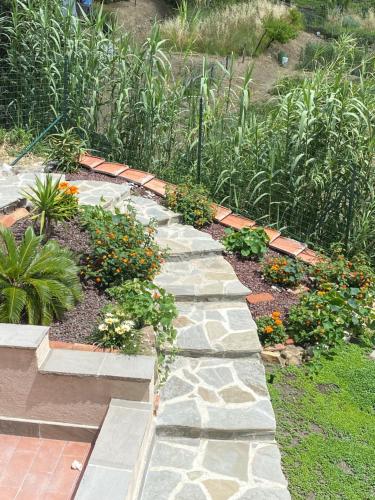
[[[221,254],[223,245],[192,226],[170,224],[156,233],[156,241],[169,250],[168,260],[185,260],[207,254]]]

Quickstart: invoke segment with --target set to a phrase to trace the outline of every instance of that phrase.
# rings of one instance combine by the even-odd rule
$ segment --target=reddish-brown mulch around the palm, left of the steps
[[[30,224],[30,220],[23,219],[12,226],[11,229],[17,241],[21,240]],[[81,229],[77,219],[55,227],[52,239],[65,248],[69,248],[77,257],[79,254],[90,251],[89,235]],[[81,302],[73,310],[65,313],[63,321],[56,321],[50,326],[51,340],[92,344],[90,337],[97,323],[99,312],[109,303],[109,299],[90,282],[82,282],[82,292]]]

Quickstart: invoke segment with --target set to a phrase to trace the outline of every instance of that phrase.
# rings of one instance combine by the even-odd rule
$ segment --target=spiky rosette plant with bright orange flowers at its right
[[[47,174],[45,181],[35,178],[35,186],[28,186],[24,196],[32,203],[32,218],[39,222],[40,234],[51,235],[52,225],[72,219],[78,211],[78,188],[68,182],[54,181]]]

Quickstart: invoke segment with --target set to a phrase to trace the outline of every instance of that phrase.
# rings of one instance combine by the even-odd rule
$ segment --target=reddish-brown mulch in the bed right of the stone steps
[[[225,228],[215,222],[203,228],[202,231],[210,234],[215,240],[221,239],[225,234]],[[265,256],[277,257],[279,255],[279,253],[273,250],[268,250]],[[248,304],[254,318],[269,315],[273,311],[280,311],[282,316],[285,317],[290,307],[299,301],[298,295],[288,292],[287,289],[275,287],[267,283],[262,277],[260,262],[241,259],[234,254],[224,255],[224,258],[233,267],[241,283],[251,290],[251,293],[270,293],[273,295],[274,300],[272,302]]]

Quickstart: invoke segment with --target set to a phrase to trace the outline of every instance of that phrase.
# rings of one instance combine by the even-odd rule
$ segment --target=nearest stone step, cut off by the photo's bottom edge
[[[290,500],[275,443],[159,437],[141,500]]]

